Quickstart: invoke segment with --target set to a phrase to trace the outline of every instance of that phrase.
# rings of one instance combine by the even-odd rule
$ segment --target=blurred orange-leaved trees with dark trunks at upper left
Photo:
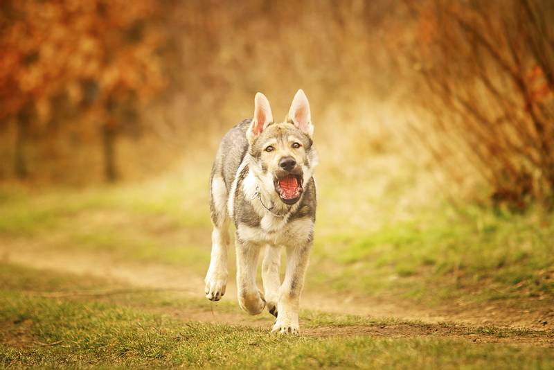
[[[0,121],[17,127],[14,170],[26,177],[26,142],[59,119],[100,133],[105,176],[117,176],[115,143],[139,103],[162,91],[157,2],[7,0],[0,5]]]

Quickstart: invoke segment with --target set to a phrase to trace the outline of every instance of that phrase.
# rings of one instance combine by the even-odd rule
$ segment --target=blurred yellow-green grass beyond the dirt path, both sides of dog
[[[379,206],[384,220],[367,231],[348,222],[336,200],[363,189],[321,186],[310,287],[361,296],[404,297],[425,304],[525,299],[554,304],[552,214],[525,215],[467,206],[454,212],[435,202],[395,219],[391,204],[409,182],[391,186]],[[409,177],[409,176],[408,176]],[[323,182],[325,184],[325,182]],[[162,179],[84,191],[0,190],[0,236],[62,252],[103,252],[116,261],[161,263],[204,274],[211,224],[205,184]],[[194,194],[194,196],[190,196]],[[350,202],[361,207],[363,203]],[[348,208],[348,207],[347,207]],[[355,208],[350,213],[360,211]],[[33,243],[30,243],[33,244]],[[231,264],[233,265],[233,264]],[[520,304],[521,303],[521,304]]]

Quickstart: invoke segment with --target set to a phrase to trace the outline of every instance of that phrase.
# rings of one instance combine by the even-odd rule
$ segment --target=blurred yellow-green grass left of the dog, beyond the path
[[[198,205],[205,197],[183,196],[181,191],[197,191],[195,184],[170,184],[40,193],[5,188],[0,190],[0,237],[46,245],[44,240],[56,236],[48,247],[62,252],[105,252],[120,261],[203,272],[211,235],[208,209]]]

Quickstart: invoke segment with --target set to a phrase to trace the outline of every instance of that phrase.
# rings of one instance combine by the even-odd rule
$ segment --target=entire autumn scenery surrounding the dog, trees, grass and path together
[[[554,8],[285,3],[0,6],[0,367],[554,367]],[[205,298],[208,178],[299,88],[315,238],[272,335],[232,246]]]

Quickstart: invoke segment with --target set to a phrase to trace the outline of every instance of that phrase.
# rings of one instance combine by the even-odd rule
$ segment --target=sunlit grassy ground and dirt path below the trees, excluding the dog
[[[388,154],[357,175],[321,164],[303,334],[279,339],[232,281],[223,301],[203,297],[209,162],[139,184],[5,188],[4,364],[552,366],[548,215],[421,202],[430,185]]]

